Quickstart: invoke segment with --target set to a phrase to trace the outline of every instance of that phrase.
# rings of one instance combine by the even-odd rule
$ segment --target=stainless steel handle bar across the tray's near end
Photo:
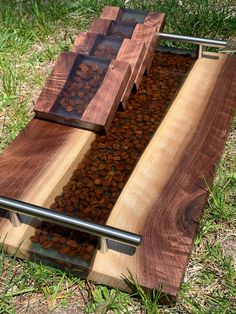
[[[58,213],[47,208],[28,204],[18,200],[0,196],[0,208],[36,217],[53,222],[64,227],[87,232],[99,237],[104,237],[130,246],[137,247],[142,237],[138,234],[110,226],[96,224],[87,220],[74,218],[66,214]]]

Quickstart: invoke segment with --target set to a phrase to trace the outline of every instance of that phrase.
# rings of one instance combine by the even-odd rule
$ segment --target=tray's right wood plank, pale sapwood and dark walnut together
[[[107,224],[143,236],[134,256],[97,252],[89,279],[176,298],[236,107],[236,58],[196,62],[138,162]],[[203,84],[204,82],[204,84]],[[144,197],[145,195],[145,197]],[[129,222],[129,223],[128,223]]]

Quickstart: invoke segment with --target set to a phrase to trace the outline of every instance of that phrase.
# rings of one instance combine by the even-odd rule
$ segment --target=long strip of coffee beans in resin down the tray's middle
[[[97,135],[51,209],[97,223],[107,221],[193,62],[189,55],[156,53],[150,73],[126,110],[116,113],[106,135]],[[96,237],[51,223],[42,223],[31,241],[65,265],[88,264],[97,246]]]

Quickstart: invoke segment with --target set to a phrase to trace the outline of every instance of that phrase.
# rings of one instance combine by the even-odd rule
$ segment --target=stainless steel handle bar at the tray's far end
[[[200,37],[192,37],[192,36],[183,36],[177,34],[168,34],[168,33],[156,33],[161,39],[179,41],[189,44],[202,45],[202,46],[210,46],[210,47],[218,47],[223,48],[226,46],[227,42],[224,40],[216,40],[209,38],[200,38]]]

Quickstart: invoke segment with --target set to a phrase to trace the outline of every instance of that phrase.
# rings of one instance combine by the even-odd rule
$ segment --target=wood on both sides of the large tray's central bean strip
[[[235,111],[235,66],[235,57],[222,55],[196,61],[107,221],[141,234],[142,244],[134,255],[122,248],[97,251],[93,263],[81,267],[88,279],[129,291],[123,276],[130,271],[143,287],[162,285],[176,297]],[[94,138],[32,120],[0,156],[1,195],[48,207]],[[21,244],[19,257],[40,255],[28,240],[34,230],[0,219],[1,241],[11,254]]]

